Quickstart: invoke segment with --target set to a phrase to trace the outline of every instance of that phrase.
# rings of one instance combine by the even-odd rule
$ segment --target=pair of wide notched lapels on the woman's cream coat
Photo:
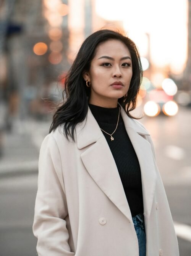
[[[154,196],[155,168],[151,145],[142,137],[149,134],[141,125],[129,118],[122,107],[121,116],[141,167],[144,211],[150,213]],[[132,222],[131,211],[112,152],[89,108],[87,119],[76,126],[76,141],[78,149],[82,149],[81,159],[87,172],[105,195]]]

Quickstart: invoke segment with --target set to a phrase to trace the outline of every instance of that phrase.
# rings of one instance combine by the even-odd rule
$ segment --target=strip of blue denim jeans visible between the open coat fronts
[[[144,215],[139,213],[133,217],[134,228],[139,242],[139,256],[146,256],[146,234]]]

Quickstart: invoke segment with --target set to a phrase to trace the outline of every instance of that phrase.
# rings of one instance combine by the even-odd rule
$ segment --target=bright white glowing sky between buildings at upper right
[[[97,15],[119,20],[142,56],[150,57],[159,67],[169,66],[180,74],[187,58],[187,0],[95,0]]]

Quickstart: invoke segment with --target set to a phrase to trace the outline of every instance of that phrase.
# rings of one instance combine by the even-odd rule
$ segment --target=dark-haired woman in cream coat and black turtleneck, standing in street
[[[133,41],[90,35],[42,142],[33,231],[39,256],[178,256],[149,132],[130,111],[142,79]]]

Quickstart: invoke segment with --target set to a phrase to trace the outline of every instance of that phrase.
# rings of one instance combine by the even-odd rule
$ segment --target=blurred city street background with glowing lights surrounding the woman
[[[0,0],[0,255],[36,255],[39,149],[65,74],[92,32],[120,30],[144,78],[132,114],[151,132],[180,256],[191,255],[191,1]]]

